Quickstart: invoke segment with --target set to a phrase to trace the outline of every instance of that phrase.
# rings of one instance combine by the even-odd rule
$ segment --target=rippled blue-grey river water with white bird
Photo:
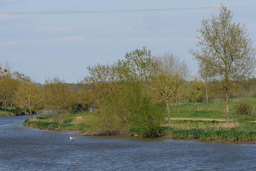
[[[256,170],[256,145],[80,136],[0,117],[0,170]]]

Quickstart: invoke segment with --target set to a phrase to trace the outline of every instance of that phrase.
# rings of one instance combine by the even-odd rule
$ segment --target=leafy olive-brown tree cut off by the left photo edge
[[[14,97],[17,86],[18,81],[10,76],[3,76],[0,80],[0,99],[4,101],[4,110],[7,110],[7,103]]]

